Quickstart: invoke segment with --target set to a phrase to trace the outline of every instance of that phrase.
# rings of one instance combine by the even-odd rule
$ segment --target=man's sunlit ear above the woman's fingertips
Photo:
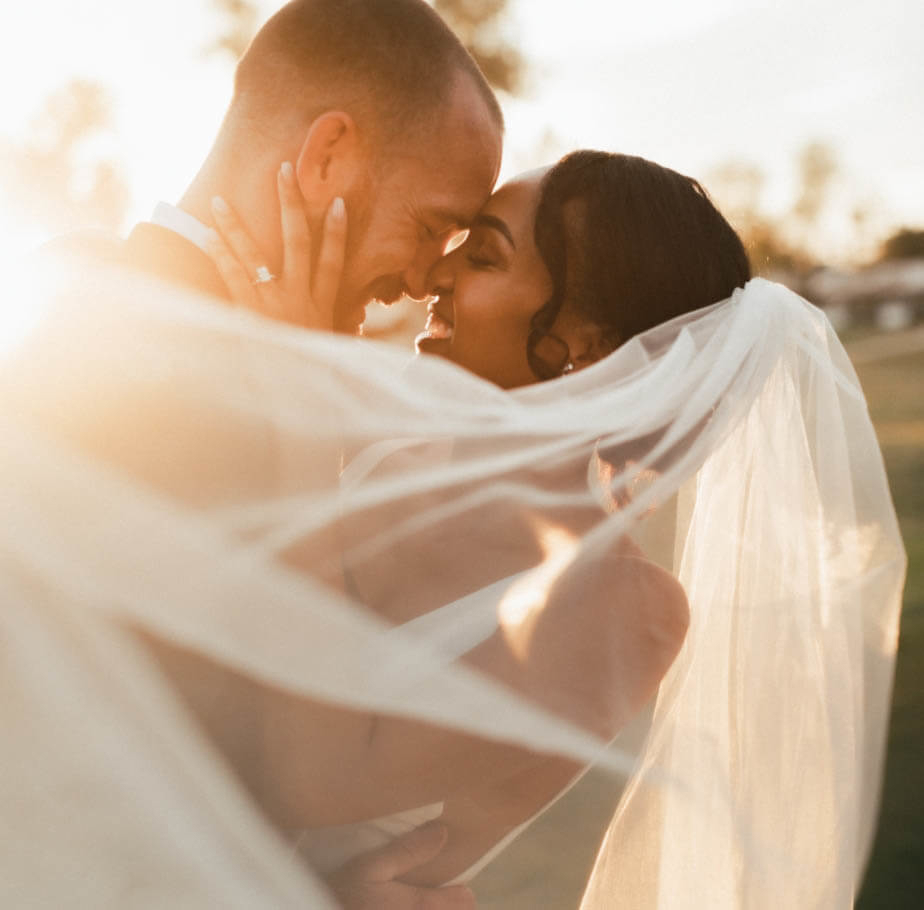
[[[337,196],[347,196],[364,172],[362,146],[353,118],[327,111],[314,120],[295,165],[309,212],[322,217]]]

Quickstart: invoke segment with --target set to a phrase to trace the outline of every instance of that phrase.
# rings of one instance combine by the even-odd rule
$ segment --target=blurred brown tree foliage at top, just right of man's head
[[[459,36],[488,82],[515,95],[523,89],[526,61],[501,33],[509,5],[508,0],[433,0],[433,8]]]

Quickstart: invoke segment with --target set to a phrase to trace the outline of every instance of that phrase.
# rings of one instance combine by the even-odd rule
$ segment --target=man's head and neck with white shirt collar
[[[282,264],[277,175],[290,162],[315,238],[306,255],[317,256],[334,200],[346,203],[334,328],[355,332],[370,301],[426,296],[447,237],[494,185],[502,131],[481,71],[422,0],[293,0],[241,59],[218,137],[179,205],[161,203],[137,225],[124,258],[229,299],[206,254],[220,197],[253,234],[270,280]]]

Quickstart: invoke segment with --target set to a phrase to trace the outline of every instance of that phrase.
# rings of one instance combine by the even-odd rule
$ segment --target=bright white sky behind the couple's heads
[[[210,0],[13,3],[0,141],[24,135],[70,79],[103,83],[115,121],[103,148],[130,183],[128,223],[146,217],[182,192],[227,103],[231,61],[205,53],[219,22]],[[837,152],[845,206],[873,205],[883,229],[924,226],[922,3],[512,0],[507,28],[532,74],[524,98],[504,100],[505,174],[581,146],[707,185],[716,165],[746,160],[767,174],[772,210],[791,202],[795,154],[821,140]],[[43,239],[28,212],[0,212],[0,234],[7,255]]]

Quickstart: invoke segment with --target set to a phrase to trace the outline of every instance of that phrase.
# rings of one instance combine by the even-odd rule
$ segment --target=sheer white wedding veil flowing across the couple
[[[0,361],[4,906],[336,906],[152,642],[290,699],[593,766],[615,811],[573,906],[852,905],[905,555],[819,310],[755,279],[503,392],[108,267],[40,277],[16,298],[37,324]],[[608,575],[627,538],[636,570]],[[587,718],[630,679],[622,651],[643,660],[638,627],[657,637],[667,589],[633,586],[655,569],[689,627],[644,705],[615,698],[643,735],[608,744]],[[594,606],[608,626],[586,627]],[[524,623],[559,649],[550,675],[467,659],[499,634],[526,660]],[[290,757],[310,781],[306,742]],[[381,773],[372,797],[416,792]],[[527,864],[511,894],[553,874],[541,850]]]

